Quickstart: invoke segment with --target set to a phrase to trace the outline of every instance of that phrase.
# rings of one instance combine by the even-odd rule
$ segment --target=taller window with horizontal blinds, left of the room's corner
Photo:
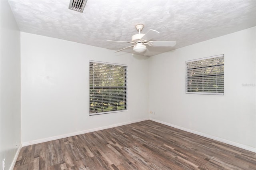
[[[127,109],[126,65],[90,61],[90,115]]]

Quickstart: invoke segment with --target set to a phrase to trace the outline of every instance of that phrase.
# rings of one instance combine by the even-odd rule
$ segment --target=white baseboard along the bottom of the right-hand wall
[[[210,138],[210,139],[213,139],[213,140],[217,140],[217,141],[219,141],[219,142],[223,142],[223,143],[226,143],[226,144],[230,144],[230,145],[232,145],[232,146],[236,146],[236,147],[238,147],[238,148],[242,148],[242,149],[245,149],[245,150],[249,150],[249,151],[251,151],[251,152],[256,152],[256,148],[253,148],[253,147],[251,147],[251,146],[247,146],[247,145],[244,145],[244,144],[236,143],[236,142],[233,142],[233,141],[230,141],[230,140],[226,140],[226,139],[223,139],[223,138],[219,138],[219,137],[216,137],[216,136],[212,136],[212,135],[205,134],[205,133],[202,133],[202,132],[198,132],[198,131],[195,131],[195,130],[191,130],[191,129],[188,129],[188,128],[180,127],[180,126],[177,126],[177,125],[172,125],[171,123],[166,123],[166,122],[159,121],[159,120],[156,120],[156,119],[153,119],[153,118],[150,118],[149,120],[154,121],[154,122],[158,122],[158,123],[161,123],[161,124],[164,124],[164,125],[167,125],[167,126],[169,126],[169,127],[178,128],[178,129],[184,130],[184,131],[186,131],[186,132],[198,134],[198,135],[200,135],[200,136],[204,136],[204,137],[206,137],[206,138]]]

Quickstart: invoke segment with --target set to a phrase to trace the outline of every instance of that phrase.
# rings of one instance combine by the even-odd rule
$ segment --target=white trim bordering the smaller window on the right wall
[[[224,58],[224,54],[214,55],[214,56],[210,56],[210,57],[203,57],[203,58],[199,58],[199,59],[192,59],[192,60],[185,61],[185,63],[186,63],[185,93],[186,94],[224,95],[224,82],[223,82],[223,93],[217,93],[217,92],[190,92],[190,91],[188,91],[188,67],[187,67],[187,63],[195,62],[195,61],[201,61],[201,60],[206,60],[206,59],[213,59],[213,58],[218,58],[218,57],[223,57]],[[224,73],[223,73],[223,76],[224,76]],[[224,79],[223,79],[223,81],[224,81]]]

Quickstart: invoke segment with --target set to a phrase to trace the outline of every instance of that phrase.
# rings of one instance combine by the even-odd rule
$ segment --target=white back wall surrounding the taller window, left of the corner
[[[89,116],[89,60],[128,65],[128,111]],[[148,119],[148,57],[21,32],[21,102],[26,144]]]

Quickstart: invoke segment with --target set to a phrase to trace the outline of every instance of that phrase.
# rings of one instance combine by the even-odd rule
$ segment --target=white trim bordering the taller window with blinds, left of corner
[[[128,111],[128,65],[120,64],[120,63],[109,63],[109,62],[104,62],[104,61],[89,60],[89,67],[90,67],[90,63],[91,62],[92,63],[101,63],[101,64],[118,65],[118,66],[126,67],[126,109],[124,109],[124,110],[117,110],[117,111],[100,112],[100,113],[90,113],[90,107],[89,107],[89,116],[103,115],[103,114],[108,114],[108,113],[118,113],[118,112]],[[89,68],[89,70],[90,70],[90,68]],[[89,71],[89,81],[88,82],[89,82],[89,89],[90,89],[90,71]],[[89,91],[89,103],[90,103],[90,91]]]

